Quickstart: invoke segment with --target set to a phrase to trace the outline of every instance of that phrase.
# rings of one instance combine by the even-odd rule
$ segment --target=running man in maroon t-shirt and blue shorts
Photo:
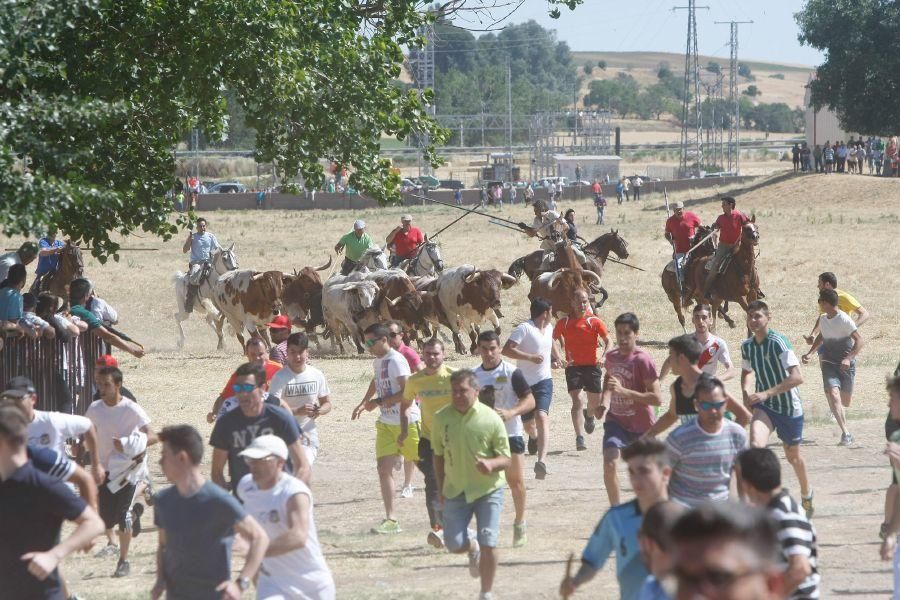
[[[603,423],[603,482],[611,506],[619,504],[616,466],[622,449],[640,438],[656,421],[654,406],[662,404],[656,363],[638,347],[640,322],[634,313],[615,320],[618,346],[606,353],[606,381],[599,403],[589,407]]]

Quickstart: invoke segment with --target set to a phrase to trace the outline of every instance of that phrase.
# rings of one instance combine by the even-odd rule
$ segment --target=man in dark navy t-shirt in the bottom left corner
[[[57,566],[103,533],[93,508],[28,460],[25,416],[0,406],[0,582],[17,598],[62,599]],[[63,520],[75,531],[57,543]]]

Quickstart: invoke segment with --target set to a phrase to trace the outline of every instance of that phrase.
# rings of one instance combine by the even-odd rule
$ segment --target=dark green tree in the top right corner
[[[810,82],[846,131],[900,133],[900,2],[809,0],[796,15],[799,39],[825,52]]]

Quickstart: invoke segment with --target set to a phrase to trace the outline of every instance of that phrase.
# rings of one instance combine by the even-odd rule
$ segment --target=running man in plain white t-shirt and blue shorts
[[[559,368],[562,363],[553,346],[553,326],[550,324],[550,303],[543,298],[531,301],[531,319],[520,324],[509,334],[503,346],[503,356],[516,360],[525,381],[531,386],[534,396],[534,410],[522,415],[528,432],[528,453],[537,451],[534,476],[547,476],[547,442],[550,439],[550,402],[553,400],[553,378],[551,366]],[[536,439],[536,442],[535,442]]]

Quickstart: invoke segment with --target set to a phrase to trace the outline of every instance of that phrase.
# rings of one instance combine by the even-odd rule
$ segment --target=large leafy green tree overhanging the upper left
[[[391,85],[434,14],[417,0],[4,0],[3,232],[57,226],[101,260],[118,249],[114,233],[168,239],[185,224],[164,195],[173,149],[194,127],[226,135],[226,93],[256,132],[258,160],[315,184],[327,159],[351,167],[358,189],[396,200],[380,137],[444,136],[430,93]]]

